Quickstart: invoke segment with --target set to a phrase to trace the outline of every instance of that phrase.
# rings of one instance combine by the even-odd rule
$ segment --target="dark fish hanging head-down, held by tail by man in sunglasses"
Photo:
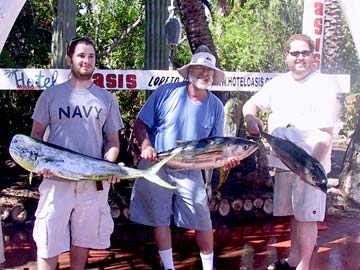
[[[264,131],[261,135],[269,142],[275,156],[279,158],[293,173],[306,183],[327,191],[327,176],[321,163],[309,155],[295,143],[272,136]]]

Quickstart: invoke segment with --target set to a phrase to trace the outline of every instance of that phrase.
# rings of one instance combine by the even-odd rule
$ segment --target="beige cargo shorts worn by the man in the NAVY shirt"
[[[70,244],[92,249],[110,246],[114,222],[108,205],[109,184],[97,191],[92,181],[44,180],[36,210],[33,237],[37,255],[51,258]]]

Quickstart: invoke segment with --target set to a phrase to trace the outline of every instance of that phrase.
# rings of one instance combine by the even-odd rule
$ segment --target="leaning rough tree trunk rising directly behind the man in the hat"
[[[202,0],[177,0],[181,21],[190,44],[192,53],[199,45],[206,45],[215,56],[217,66],[220,67],[218,55],[211,36]],[[214,92],[223,103],[229,99],[229,92]]]

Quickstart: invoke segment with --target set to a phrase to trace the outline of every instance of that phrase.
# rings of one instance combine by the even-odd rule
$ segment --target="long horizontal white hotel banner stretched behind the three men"
[[[0,90],[44,90],[68,80],[69,69],[0,69]],[[225,72],[225,79],[214,91],[258,91],[281,73]],[[350,75],[329,75],[339,92],[349,92]],[[95,70],[93,81],[108,90],[155,90],[165,83],[184,79],[172,70]]]

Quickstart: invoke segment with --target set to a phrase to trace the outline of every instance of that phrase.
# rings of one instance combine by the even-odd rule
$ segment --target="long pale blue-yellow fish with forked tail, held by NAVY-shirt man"
[[[48,169],[55,176],[74,181],[101,181],[107,180],[110,176],[116,176],[119,179],[143,177],[159,186],[174,189],[174,186],[162,180],[156,173],[180,150],[173,151],[171,155],[147,170],[93,158],[21,134],[12,138],[9,152],[17,164],[32,173]]]

